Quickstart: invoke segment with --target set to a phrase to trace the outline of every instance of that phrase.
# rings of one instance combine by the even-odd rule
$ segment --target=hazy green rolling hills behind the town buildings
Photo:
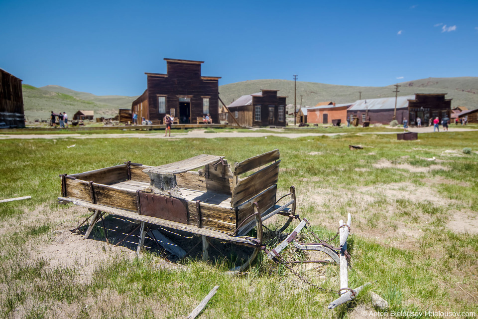
[[[415,93],[448,93],[452,107],[466,106],[478,108],[478,77],[428,78],[399,83],[399,96]],[[221,85],[220,97],[231,104],[241,95],[260,92],[260,89],[279,90],[279,95],[288,96],[287,103],[294,104],[294,81],[289,80],[251,80]],[[363,87],[323,84],[315,82],[297,82],[297,105],[315,106],[319,102],[336,103],[355,102],[359,99],[373,99],[393,96],[393,85],[383,87]],[[50,111],[67,112],[70,118],[78,110],[94,110],[95,117],[111,117],[118,114],[119,108],[130,108],[135,96],[97,96],[87,92],[78,92],[57,85],[36,88],[23,85],[25,116],[46,119]]]

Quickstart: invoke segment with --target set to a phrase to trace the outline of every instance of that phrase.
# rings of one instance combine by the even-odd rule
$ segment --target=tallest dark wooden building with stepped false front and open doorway
[[[164,124],[166,114],[178,119],[180,124],[195,124],[197,118],[209,113],[213,123],[219,123],[218,83],[221,77],[202,76],[203,61],[164,60],[166,74],[145,73],[147,88],[133,101],[131,112],[136,112],[138,119],[144,117],[160,124]]]

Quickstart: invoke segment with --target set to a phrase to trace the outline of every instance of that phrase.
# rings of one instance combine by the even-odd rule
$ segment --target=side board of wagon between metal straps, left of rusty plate
[[[137,211],[136,191],[93,183],[96,203],[121,209]]]

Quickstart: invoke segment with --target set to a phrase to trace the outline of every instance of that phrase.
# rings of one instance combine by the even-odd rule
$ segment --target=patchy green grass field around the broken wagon
[[[478,235],[447,228],[454,209],[475,217],[478,214],[478,155],[443,155],[446,150],[464,147],[478,150],[477,141],[475,132],[422,134],[419,141],[355,133],[297,139],[0,140],[1,197],[32,196],[31,200],[0,206],[0,317],[46,318],[68,313],[72,318],[185,318],[215,285],[220,289],[202,318],[348,318],[354,307],[370,304],[369,291],[385,298],[395,312],[478,313],[476,301],[463,292],[477,296]],[[67,148],[72,144],[76,146]],[[364,149],[350,151],[348,146],[356,144]],[[188,259],[182,261],[185,268],[170,269],[153,253],[145,252],[141,259],[113,254],[111,246],[101,242],[100,232],[94,234],[101,247],[96,253],[111,256],[91,268],[76,263],[58,265],[37,254],[50,245],[61,250],[57,231],[66,228],[68,232],[87,213],[82,210],[68,215],[71,205],[57,205],[58,174],[127,160],[160,165],[199,154],[223,155],[233,164],[275,148],[281,152],[279,194],[296,185],[302,198],[298,212],[311,221],[321,238],[333,237],[338,220],[352,213],[349,286],[376,282],[349,307],[328,311],[335,295],[314,287],[298,288],[285,267],[263,255],[249,271],[232,278],[223,273],[229,266],[223,259],[208,263]],[[386,159],[426,167],[428,162],[420,158],[433,156],[448,160],[434,164],[449,170],[411,173],[372,166]],[[450,182],[426,184],[424,178]],[[398,191],[406,192],[410,185],[428,187],[441,200],[386,195],[391,185],[401,184],[406,186]],[[309,195],[319,201],[309,202]],[[404,230],[418,235],[398,234]],[[387,233],[392,236],[383,239]],[[80,236],[77,240],[83,243]],[[283,255],[300,258],[293,249]],[[338,289],[336,265],[321,270],[325,279],[318,274],[303,272],[324,288]]]

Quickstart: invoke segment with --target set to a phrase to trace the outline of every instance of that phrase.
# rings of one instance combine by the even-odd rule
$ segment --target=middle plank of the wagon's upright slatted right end
[[[279,176],[279,164],[280,160],[241,179],[233,191],[232,207],[237,207],[247,199],[276,184]]]

